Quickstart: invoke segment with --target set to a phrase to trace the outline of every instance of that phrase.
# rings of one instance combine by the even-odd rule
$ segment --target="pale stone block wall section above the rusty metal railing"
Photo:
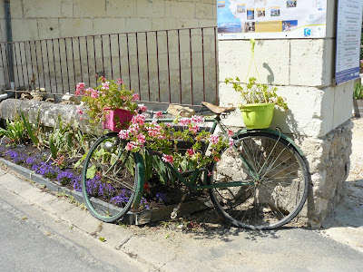
[[[216,25],[214,0],[12,0],[14,41]]]

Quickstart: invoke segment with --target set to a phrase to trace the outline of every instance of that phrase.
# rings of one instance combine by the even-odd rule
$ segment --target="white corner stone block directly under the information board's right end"
[[[331,59],[333,46],[323,39],[291,40],[289,84],[329,86],[332,84]]]

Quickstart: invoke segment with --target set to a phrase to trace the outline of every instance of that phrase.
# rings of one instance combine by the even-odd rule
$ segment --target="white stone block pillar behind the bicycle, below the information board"
[[[257,40],[255,59],[262,83],[272,83],[287,98],[289,111],[275,110],[271,127],[289,134],[309,161],[309,225],[319,228],[343,193],[351,153],[353,82],[334,80],[336,1],[328,1],[327,36],[319,39]],[[244,79],[250,41],[219,41],[220,102],[236,104],[239,94],[226,77]],[[257,77],[254,69],[249,76]],[[240,112],[228,123],[242,126]]]

